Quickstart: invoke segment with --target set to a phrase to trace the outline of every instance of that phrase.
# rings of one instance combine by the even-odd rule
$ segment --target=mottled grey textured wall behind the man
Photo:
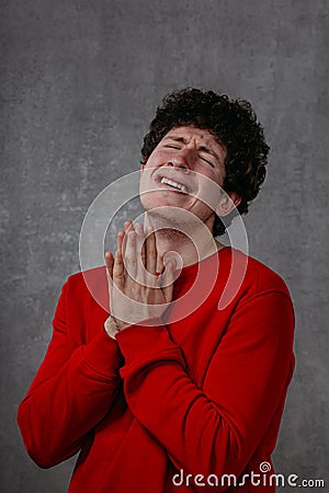
[[[250,253],[285,278],[296,309],[297,367],[274,460],[279,472],[325,478],[328,2],[3,0],[0,20],[1,491],[67,489],[73,460],[34,466],[16,408],[60,286],[79,270],[89,205],[138,168],[156,105],[185,85],[250,100],[265,127],[272,152],[246,217]]]

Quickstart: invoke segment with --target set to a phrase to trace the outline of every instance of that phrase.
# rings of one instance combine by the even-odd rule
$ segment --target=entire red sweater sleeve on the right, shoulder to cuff
[[[177,469],[239,477],[285,398],[293,331],[287,296],[256,296],[235,311],[200,389],[164,325],[131,326],[116,336],[127,403]]]

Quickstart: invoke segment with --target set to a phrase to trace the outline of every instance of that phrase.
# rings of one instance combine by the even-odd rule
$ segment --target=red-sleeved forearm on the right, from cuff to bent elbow
[[[237,468],[230,472],[236,472],[239,432],[191,380],[166,328],[133,330],[145,351],[138,342],[133,353],[127,331],[116,336],[126,359],[121,375],[133,414],[167,449],[178,469],[222,474],[235,457]],[[248,455],[249,449],[243,447],[243,452]]]

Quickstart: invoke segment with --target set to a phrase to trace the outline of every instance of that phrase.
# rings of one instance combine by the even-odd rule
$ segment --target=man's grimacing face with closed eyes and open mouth
[[[179,207],[211,229],[214,207],[200,198],[208,199],[214,194],[217,197],[219,188],[215,184],[224,183],[225,158],[226,149],[208,130],[192,126],[172,128],[141,167],[140,200],[145,210]]]

